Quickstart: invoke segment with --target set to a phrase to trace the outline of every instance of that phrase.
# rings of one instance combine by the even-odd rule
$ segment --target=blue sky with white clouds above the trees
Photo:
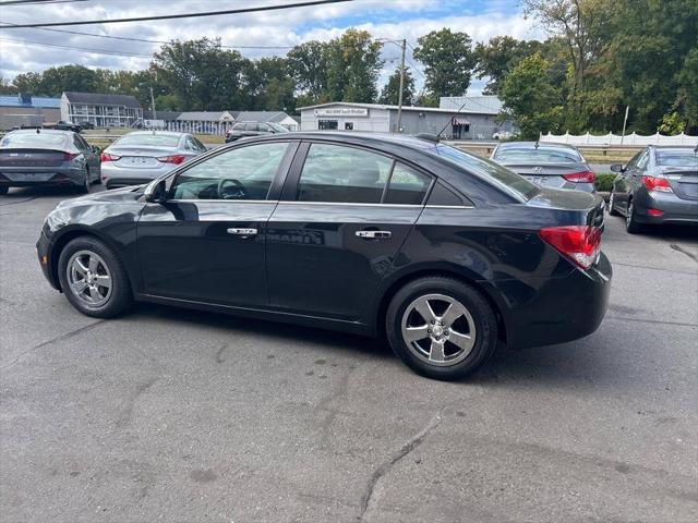
[[[2,5],[4,1],[8,0],[0,0],[1,24],[219,11],[302,0],[53,0],[40,5]],[[486,41],[497,35],[519,39],[541,39],[544,36],[540,27],[524,17],[517,0],[353,0],[261,13],[57,28],[148,40],[219,37],[222,45],[245,47],[240,49],[243,56],[258,58],[284,56],[287,51],[285,48],[262,48],[264,46],[292,47],[311,39],[327,40],[349,27],[366,29],[376,38],[407,38],[411,47],[417,45],[420,36],[442,27],[468,33],[473,42]],[[141,70],[147,68],[149,56],[158,47],[157,44],[39,28],[0,29],[0,77],[10,80],[20,73],[69,63]],[[411,54],[411,49],[408,49],[407,64],[413,70],[418,88],[421,88],[423,70]],[[399,64],[399,47],[386,42],[381,83]],[[484,80],[473,78],[469,94],[479,94],[484,83]]]

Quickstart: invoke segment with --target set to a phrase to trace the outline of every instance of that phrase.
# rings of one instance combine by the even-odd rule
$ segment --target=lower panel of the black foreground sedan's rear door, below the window
[[[360,318],[421,211],[412,205],[280,202],[267,230],[270,305]]]

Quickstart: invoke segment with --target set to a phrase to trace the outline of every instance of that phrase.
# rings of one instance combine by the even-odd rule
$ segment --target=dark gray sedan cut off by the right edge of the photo
[[[625,216],[628,232],[646,223],[698,224],[698,147],[649,146],[611,170],[618,175],[609,212]]]

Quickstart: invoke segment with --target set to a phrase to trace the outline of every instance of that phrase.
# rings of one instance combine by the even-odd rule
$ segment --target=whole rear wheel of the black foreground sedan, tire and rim
[[[472,287],[450,278],[422,278],[400,289],[387,309],[395,353],[422,376],[454,380],[473,373],[496,346],[492,307]]]

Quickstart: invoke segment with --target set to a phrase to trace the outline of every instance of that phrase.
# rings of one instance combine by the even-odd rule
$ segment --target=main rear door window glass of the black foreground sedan
[[[298,199],[378,204],[392,167],[393,160],[374,153],[313,144],[301,172]]]

